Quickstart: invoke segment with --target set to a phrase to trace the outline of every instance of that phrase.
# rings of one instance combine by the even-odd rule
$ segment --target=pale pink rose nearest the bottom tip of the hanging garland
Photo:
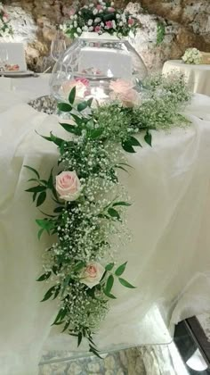
[[[81,282],[87,287],[94,287],[100,283],[105,269],[100,263],[90,262],[81,272]]]

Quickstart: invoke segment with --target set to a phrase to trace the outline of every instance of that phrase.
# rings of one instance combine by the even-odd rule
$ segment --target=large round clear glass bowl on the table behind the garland
[[[85,35],[84,35],[85,34]],[[55,64],[50,80],[51,94],[59,102],[68,101],[76,87],[77,101],[93,97],[109,101],[113,81],[123,79],[141,89],[148,72],[141,57],[125,39],[84,33]]]

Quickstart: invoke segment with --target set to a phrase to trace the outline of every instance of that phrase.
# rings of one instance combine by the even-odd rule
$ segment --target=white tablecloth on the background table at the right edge
[[[193,93],[210,96],[210,64],[187,64],[182,60],[170,60],[164,64],[163,73],[183,73]]]

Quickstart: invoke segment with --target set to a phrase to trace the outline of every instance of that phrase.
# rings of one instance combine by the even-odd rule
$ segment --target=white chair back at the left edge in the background
[[[6,49],[8,64],[18,64],[20,71],[27,71],[27,63],[23,43],[0,43],[0,50]]]

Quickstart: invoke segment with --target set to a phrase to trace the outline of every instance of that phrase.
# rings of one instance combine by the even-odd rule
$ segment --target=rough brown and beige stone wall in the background
[[[81,2],[82,3],[82,2]],[[12,18],[14,36],[8,41],[26,45],[28,68],[38,71],[43,57],[49,55],[55,26],[68,17],[71,0],[4,0]],[[159,70],[168,59],[180,58],[189,46],[210,52],[209,0],[118,0],[130,11],[138,11],[141,21],[133,46],[149,70]],[[158,31],[165,37],[158,41]]]

